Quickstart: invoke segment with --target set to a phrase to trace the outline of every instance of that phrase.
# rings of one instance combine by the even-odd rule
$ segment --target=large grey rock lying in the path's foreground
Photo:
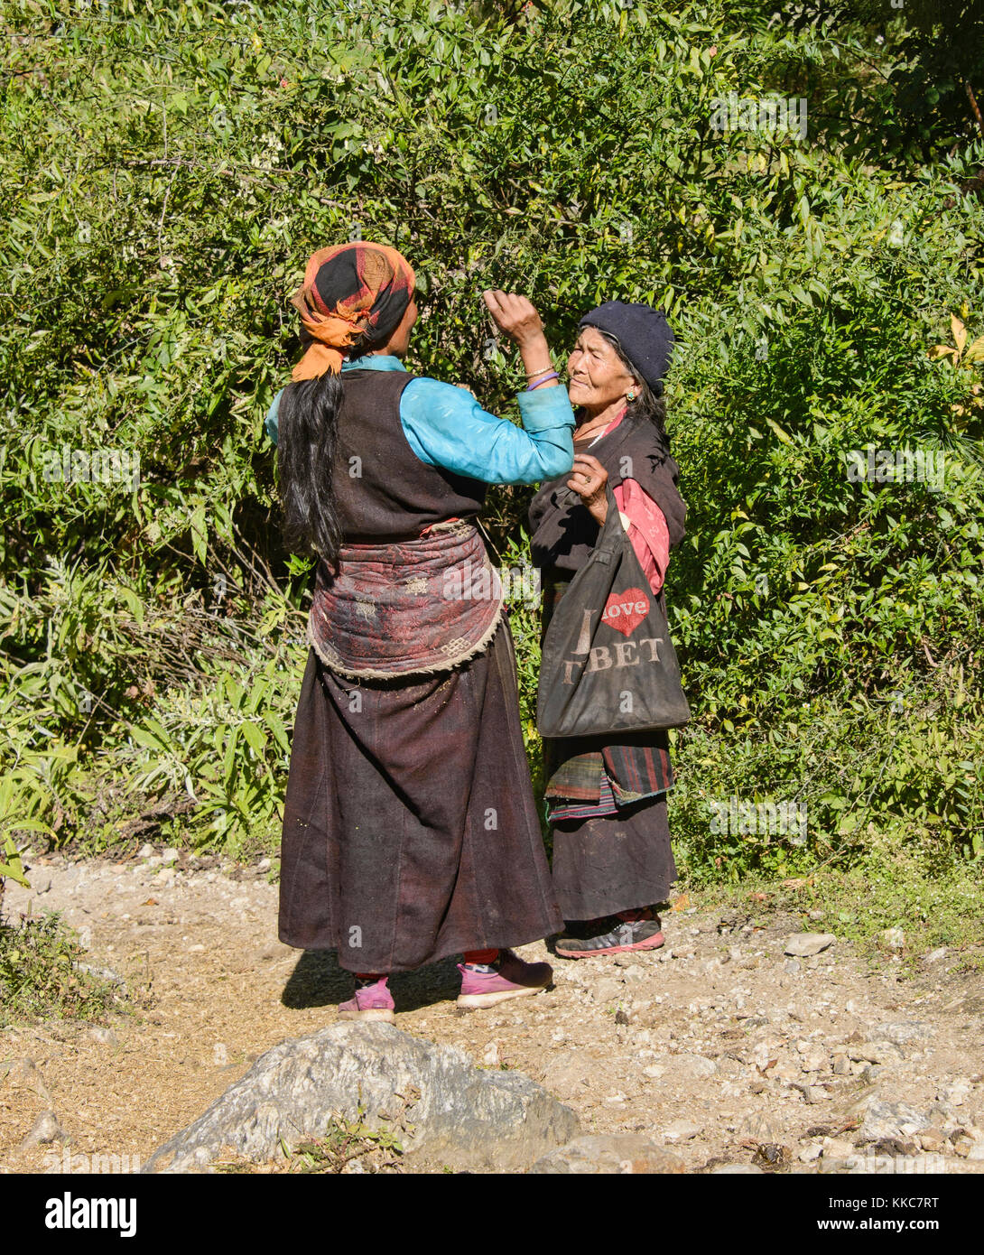
[[[207,1171],[223,1147],[267,1161],[281,1140],[324,1137],[338,1116],[370,1128],[403,1118],[417,1168],[522,1171],[580,1132],[576,1114],[528,1077],[483,1072],[392,1024],[333,1024],[267,1050],[142,1171]]]

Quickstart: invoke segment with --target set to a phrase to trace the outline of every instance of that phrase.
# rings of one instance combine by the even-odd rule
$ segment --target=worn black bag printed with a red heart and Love
[[[659,599],[609,512],[587,561],[543,636],[536,723],[541,737],[592,737],[682,728],[690,720]]]

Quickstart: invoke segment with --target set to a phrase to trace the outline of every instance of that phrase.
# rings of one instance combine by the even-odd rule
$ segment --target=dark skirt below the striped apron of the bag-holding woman
[[[676,878],[665,796],[618,814],[556,820],[554,892],[565,920],[595,920],[664,902]]]

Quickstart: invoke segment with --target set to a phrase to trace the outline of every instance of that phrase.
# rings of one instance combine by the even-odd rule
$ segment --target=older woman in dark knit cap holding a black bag
[[[664,612],[669,552],[684,535],[687,507],[664,428],[663,375],[673,348],[664,314],[609,301],[579,325],[567,363],[577,418],[574,473],[545,483],[530,506],[545,630],[597,540],[606,484]],[[547,740],[545,754],[554,889],[567,921],[557,954],[581,959],[663,945],[656,907],[676,876],[666,733]]]

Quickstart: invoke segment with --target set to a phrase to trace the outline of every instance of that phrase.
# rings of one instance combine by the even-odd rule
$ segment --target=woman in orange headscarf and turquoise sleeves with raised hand
[[[343,1018],[393,1020],[387,980],[463,954],[458,1005],[551,979],[510,946],[561,926],[523,753],[501,586],[472,520],[488,483],[571,468],[574,413],[528,300],[486,292],[520,348],[523,427],[408,373],[414,274],[324,248],[294,297],[306,353],[275,398],[285,535],[319,557],[284,808],[280,937],[336,950]]]

